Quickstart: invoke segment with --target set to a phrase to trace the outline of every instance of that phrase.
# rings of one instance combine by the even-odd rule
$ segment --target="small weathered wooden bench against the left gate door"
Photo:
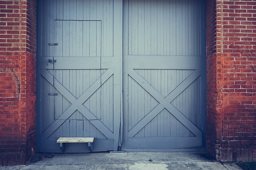
[[[65,143],[88,143],[88,147],[92,152],[92,142],[94,137],[60,137],[57,140],[57,143],[60,143],[60,148],[62,152],[65,152]]]

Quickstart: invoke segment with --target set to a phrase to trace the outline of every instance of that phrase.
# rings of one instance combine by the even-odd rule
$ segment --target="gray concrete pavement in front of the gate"
[[[212,160],[206,152],[38,153],[26,165],[0,170],[241,170]]]

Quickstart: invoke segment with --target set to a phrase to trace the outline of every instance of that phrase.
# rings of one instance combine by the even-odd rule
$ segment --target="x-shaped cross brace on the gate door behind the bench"
[[[47,139],[60,125],[62,125],[68,117],[70,117],[74,111],[78,110],[80,113],[92,123],[102,134],[108,139],[113,139],[114,134],[99,121],[84,105],[83,103],[104,83],[113,75],[113,70],[108,69],[101,78],[97,79],[78,99],[74,97],[57,79],[55,79],[46,69],[41,70],[42,76],[49,81],[54,87],[72,104],[52,125],[50,125],[41,135],[43,139]],[[53,83],[54,82],[54,83]]]

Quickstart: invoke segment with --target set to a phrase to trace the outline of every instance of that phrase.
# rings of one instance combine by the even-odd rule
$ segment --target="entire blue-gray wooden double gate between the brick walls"
[[[37,151],[204,148],[202,0],[38,1]],[[85,144],[66,152],[90,152]]]

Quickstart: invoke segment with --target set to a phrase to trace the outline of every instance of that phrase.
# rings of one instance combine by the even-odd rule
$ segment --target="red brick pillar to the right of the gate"
[[[256,161],[256,0],[207,0],[206,149]]]

